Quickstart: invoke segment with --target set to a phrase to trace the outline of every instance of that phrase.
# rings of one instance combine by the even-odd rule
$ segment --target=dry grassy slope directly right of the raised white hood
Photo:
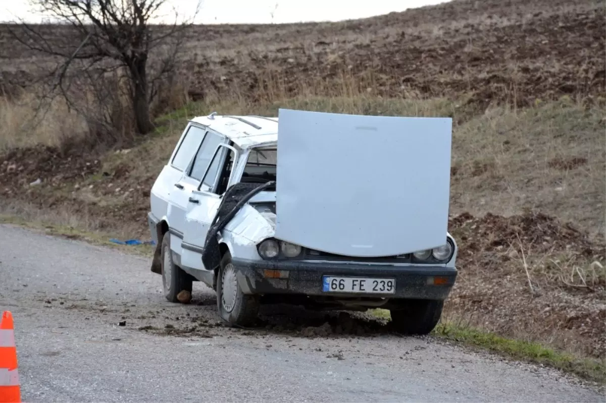
[[[494,108],[454,129],[456,211],[539,209],[606,231],[606,110],[562,99]],[[570,163],[574,161],[576,163]]]

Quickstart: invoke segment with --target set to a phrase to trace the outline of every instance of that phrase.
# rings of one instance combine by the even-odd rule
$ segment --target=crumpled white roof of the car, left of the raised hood
[[[223,134],[240,148],[278,142],[278,118],[264,116],[197,116],[190,122]]]

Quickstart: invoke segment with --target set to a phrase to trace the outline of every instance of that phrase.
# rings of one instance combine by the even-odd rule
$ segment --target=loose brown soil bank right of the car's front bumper
[[[606,261],[606,242],[533,213],[461,214],[450,229],[461,251],[450,309],[501,334],[606,354],[606,271],[594,263]]]

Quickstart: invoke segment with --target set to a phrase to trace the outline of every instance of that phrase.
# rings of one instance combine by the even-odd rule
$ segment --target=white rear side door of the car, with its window
[[[183,227],[185,221],[185,210],[187,209],[187,199],[198,187],[199,181],[190,175],[193,160],[198,154],[204,143],[207,129],[204,126],[191,124],[185,133],[185,137],[175,153],[172,165],[181,170],[181,175],[176,182],[170,183],[170,193],[168,195],[167,219],[168,227],[172,235],[175,235],[175,242],[171,238],[171,249],[177,253],[181,251],[181,240],[183,238]]]

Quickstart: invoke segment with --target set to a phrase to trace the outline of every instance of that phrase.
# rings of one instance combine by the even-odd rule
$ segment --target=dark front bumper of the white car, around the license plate
[[[324,297],[379,297],[445,300],[458,270],[442,266],[393,266],[326,261],[266,261],[233,258],[238,282],[245,294],[303,294]],[[281,277],[267,278],[265,270],[281,270]],[[271,276],[271,274],[269,274]],[[393,294],[323,292],[322,276],[395,278]],[[437,281],[436,281],[437,279]]]

